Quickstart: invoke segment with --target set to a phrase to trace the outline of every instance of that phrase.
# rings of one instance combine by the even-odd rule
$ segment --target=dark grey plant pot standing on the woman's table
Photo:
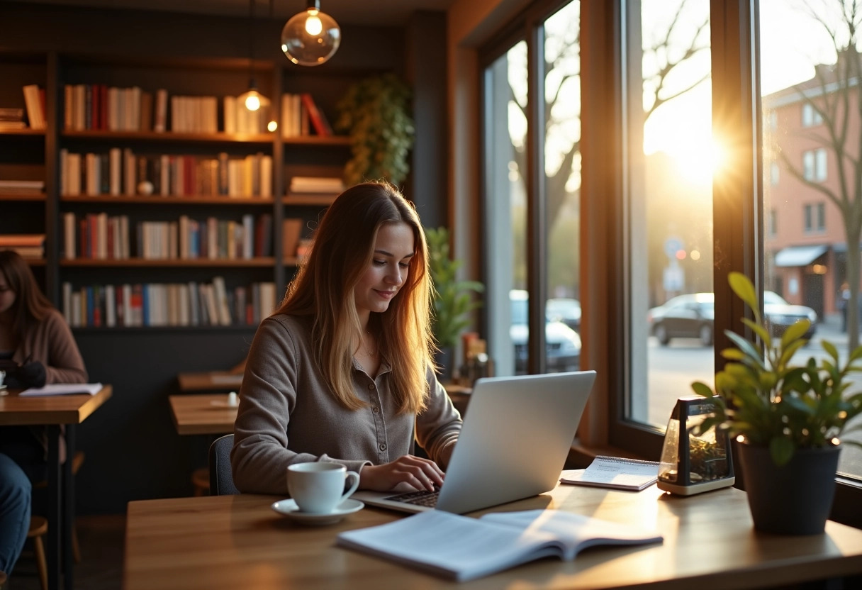
[[[740,467],[754,528],[785,535],[823,532],[835,494],[840,447],[796,449],[783,467],[769,449],[739,445]]]

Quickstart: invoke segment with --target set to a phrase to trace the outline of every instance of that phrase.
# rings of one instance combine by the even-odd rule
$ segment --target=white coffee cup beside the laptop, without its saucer
[[[353,479],[347,492],[344,482]],[[295,463],[287,467],[287,490],[302,512],[328,514],[359,487],[359,474],[338,463]]]

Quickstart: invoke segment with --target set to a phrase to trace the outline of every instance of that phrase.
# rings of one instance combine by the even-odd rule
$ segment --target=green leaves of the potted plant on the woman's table
[[[761,317],[757,292],[742,273],[730,273],[734,293],[751,308],[754,321],[742,322],[759,337],[753,344],[727,330],[736,348],[726,348],[724,370],[715,373],[715,391],[696,381],[691,388],[715,402],[716,411],[703,421],[698,432],[710,428],[727,430],[730,436],[744,436],[749,444],[770,449],[772,461],[785,465],[796,449],[823,448],[836,444],[848,421],[862,413],[862,393],[845,396],[849,373],[862,372],[862,346],[841,364],[837,348],[826,340],[821,346],[829,357],[820,365],[809,358],[802,366],[791,357],[808,342],[803,335],[808,320],[794,323],[780,337],[770,334]],[[862,430],[857,424],[847,429]],[[845,441],[862,448],[857,441]]]

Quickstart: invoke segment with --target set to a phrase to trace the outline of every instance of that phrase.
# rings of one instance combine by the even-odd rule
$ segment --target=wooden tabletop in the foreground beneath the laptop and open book
[[[661,531],[662,544],[590,549],[572,562],[546,559],[465,584],[334,546],[336,533],[403,518],[372,507],[339,524],[303,527],[272,512],[272,496],[241,494],[130,502],[126,590],[186,588],[609,588],[689,590],[782,587],[862,573],[862,530],[755,532],[746,495],[724,488],[690,498],[655,486],[640,493],[558,486],[494,510],[557,508]],[[487,511],[484,511],[487,512]],[[484,512],[475,512],[478,516]]]

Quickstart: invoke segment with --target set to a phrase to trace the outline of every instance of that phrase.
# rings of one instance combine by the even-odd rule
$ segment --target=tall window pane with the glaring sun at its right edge
[[[712,135],[709,1],[629,4],[628,203],[632,365],[628,420],[664,427],[693,380],[711,382]],[[635,29],[637,30],[637,29]],[[640,39],[640,42],[638,41]],[[639,47],[640,46],[640,47]],[[638,59],[640,57],[640,59]]]

